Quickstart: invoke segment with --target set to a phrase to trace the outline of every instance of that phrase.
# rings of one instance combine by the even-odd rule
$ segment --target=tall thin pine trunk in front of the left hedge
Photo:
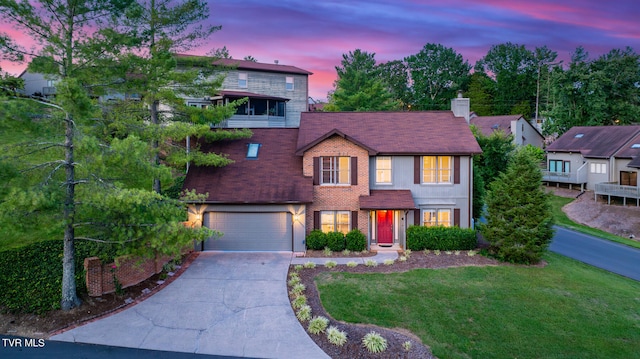
[[[73,162],[73,121],[67,114],[65,118],[65,173],[67,193],[64,201],[64,250],[62,258],[62,310],[70,310],[80,305],[76,293],[75,276],[75,163]]]

